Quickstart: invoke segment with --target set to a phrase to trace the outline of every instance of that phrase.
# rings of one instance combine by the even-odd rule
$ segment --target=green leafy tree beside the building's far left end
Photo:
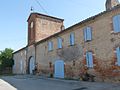
[[[12,67],[14,61],[12,59],[13,50],[10,48],[6,48],[5,50],[0,52],[0,69],[4,70],[7,67]]]

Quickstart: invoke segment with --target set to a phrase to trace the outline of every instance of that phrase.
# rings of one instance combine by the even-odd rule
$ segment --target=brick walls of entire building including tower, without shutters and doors
[[[113,17],[120,14],[120,7],[104,11],[65,30],[63,20],[33,14],[28,19],[28,46],[14,53],[16,70],[19,74],[19,60],[25,60],[25,72],[29,73],[30,58],[34,57],[38,75],[54,75],[55,62],[64,61],[65,78],[78,79],[86,72],[94,75],[96,81],[120,81],[120,66],[116,64],[116,47],[120,47],[120,33],[115,33]],[[38,15],[38,14],[37,14]],[[45,18],[46,17],[46,18]],[[84,28],[92,28],[92,40],[84,41]],[[31,38],[31,30],[34,38]],[[30,32],[29,32],[30,31]],[[70,45],[70,34],[75,35],[75,45]],[[62,48],[58,49],[57,38],[62,38]],[[48,50],[48,42],[53,42],[53,50]],[[26,50],[26,55],[21,52]],[[93,53],[93,68],[87,67],[86,52]]]

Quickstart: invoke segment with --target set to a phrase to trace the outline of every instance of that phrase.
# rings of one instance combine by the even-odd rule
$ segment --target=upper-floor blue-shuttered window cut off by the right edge
[[[113,27],[114,32],[120,32],[120,15],[116,15],[113,17]]]

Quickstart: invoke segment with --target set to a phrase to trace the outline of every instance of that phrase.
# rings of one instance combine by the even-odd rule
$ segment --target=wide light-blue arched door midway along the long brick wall
[[[64,78],[64,61],[63,60],[55,61],[54,77],[55,78]]]

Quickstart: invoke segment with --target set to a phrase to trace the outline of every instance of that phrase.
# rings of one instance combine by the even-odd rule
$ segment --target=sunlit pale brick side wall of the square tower
[[[61,31],[63,26],[63,20],[56,20],[53,18],[46,18],[42,16],[38,16],[36,18],[36,27],[35,27],[35,42],[43,40],[51,35],[58,33]],[[46,33],[47,32],[47,33]]]

